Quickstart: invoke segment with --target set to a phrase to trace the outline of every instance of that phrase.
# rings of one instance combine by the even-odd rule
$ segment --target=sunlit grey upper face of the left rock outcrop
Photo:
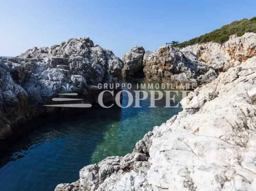
[[[89,38],[71,38],[51,48],[27,50],[20,58],[39,58],[53,68],[67,65],[72,74],[82,75],[89,84],[116,82],[121,76],[123,62],[112,51],[94,45]],[[59,66],[58,66],[59,65]]]

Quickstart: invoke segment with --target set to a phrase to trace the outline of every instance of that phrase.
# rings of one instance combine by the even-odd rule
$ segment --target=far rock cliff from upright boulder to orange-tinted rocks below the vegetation
[[[255,33],[245,33],[241,37],[231,35],[223,45],[208,42],[181,50],[162,46],[156,51],[144,52],[142,47],[135,46],[123,54],[123,76],[135,76],[143,69],[148,80],[182,84],[184,89],[189,85],[189,89],[194,89],[213,81],[219,72],[238,66],[255,54]]]

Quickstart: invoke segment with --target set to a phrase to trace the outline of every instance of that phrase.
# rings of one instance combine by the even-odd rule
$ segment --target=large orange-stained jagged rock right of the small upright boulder
[[[198,85],[208,83],[217,77],[211,66],[198,61],[190,52],[183,54],[172,46],[162,46],[157,51],[147,51],[143,57],[143,66],[148,80],[184,87],[181,89],[195,89]]]

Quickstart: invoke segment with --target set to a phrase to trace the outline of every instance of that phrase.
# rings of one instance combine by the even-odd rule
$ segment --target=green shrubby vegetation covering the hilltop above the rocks
[[[197,43],[205,42],[217,42],[223,44],[229,39],[229,36],[232,34],[237,34],[237,36],[242,36],[246,32],[256,33],[256,17],[249,19],[242,19],[240,21],[233,21],[230,24],[224,25],[220,29],[216,29],[205,35],[184,41],[177,45],[179,48],[186,47],[188,45],[194,45]]]

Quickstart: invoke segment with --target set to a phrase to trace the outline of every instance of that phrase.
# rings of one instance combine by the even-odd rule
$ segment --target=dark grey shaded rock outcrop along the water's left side
[[[59,93],[75,92],[84,103],[97,100],[98,83],[116,83],[123,63],[89,38],[69,39],[51,48],[27,50],[17,58],[0,57],[0,138],[5,141],[18,125],[44,113],[63,109],[43,107]],[[1,149],[3,144],[1,144]]]

